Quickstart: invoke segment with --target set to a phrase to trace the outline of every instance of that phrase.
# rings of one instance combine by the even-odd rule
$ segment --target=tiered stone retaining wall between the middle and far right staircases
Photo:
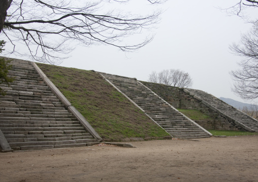
[[[181,108],[185,110],[198,110],[202,113],[210,116],[210,121],[196,121],[199,125],[205,129],[215,130],[243,130],[237,126],[235,122],[219,115],[213,111],[210,107],[194,98],[192,95],[184,92],[184,88],[167,86],[164,84],[156,84],[150,82],[141,81],[146,87],[151,89],[157,95],[162,97],[168,103],[173,105],[175,108]]]

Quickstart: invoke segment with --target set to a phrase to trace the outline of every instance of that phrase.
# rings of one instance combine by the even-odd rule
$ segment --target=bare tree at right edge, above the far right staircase
[[[230,50],[243,57],[238,63],[240,69],[231,71],[234,80],[232,88],[243,99],[258,97],[258,24],[253,23],[253,28],[242,34],[239,44],[230,46]]]

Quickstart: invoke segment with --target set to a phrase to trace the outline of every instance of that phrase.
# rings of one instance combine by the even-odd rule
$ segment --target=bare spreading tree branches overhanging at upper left
[[[123,39],[152,28],[159,20],[160,11],[140,16],[130,13],[104,11],[109,3],[128,3],[131,0],[1,0],[0,38],[11,43],[12,53],[17,43],[28,49],[28,54],[41,62],[56,63],[70,53],[74,42],[84,46],[106,44],[122,51],[133,51],[148,44],[153,36],[127,45]],[[165,0],[147,0],[159,4]],[[60,53],[63,57],[60,57]]]

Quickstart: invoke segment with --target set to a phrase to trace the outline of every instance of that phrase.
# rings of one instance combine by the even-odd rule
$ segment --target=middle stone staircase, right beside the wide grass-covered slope
[[[147,115],[176,138],[203,138],[210,134],[190,121],[162,98],[135,79],[100,72],[121,92],[140,106]]]

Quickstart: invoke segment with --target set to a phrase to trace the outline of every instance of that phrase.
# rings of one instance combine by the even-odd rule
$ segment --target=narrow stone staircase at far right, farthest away
[[[225,117],[234,120],[236,123],[240,123],[240,126],[244,129],[248,130],[248,128],[250,128],[251,130],[258,132],[258,121],[237,110],[235,107],[204,91],[188,88],[186,90],[189,91],[191,95],[196,95],[211,106],[215,107],[216,110]],[[245,126],[248,128],[245,128]]]

